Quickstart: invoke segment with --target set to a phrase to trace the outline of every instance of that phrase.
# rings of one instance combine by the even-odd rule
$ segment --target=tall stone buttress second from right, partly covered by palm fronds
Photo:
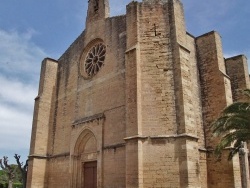
[[[209,152],[218,142],[218,139],[212,136],[209,127],[219,113],[232,103],[231,83],[226,74],[219,34],[213,31],[202,35],[196,39],[196,45],[201,78],[205,141]],[[241,187],[238,158],[235,157],[233,162],[226,160],[216,162],[212,151],[207,155],[207,186]]]

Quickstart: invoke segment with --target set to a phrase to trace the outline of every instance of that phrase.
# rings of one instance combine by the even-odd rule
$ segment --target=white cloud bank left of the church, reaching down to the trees
[[[0,155],[29,150],[40,65],[46,57],[32,42],[35,33],[0,29]]]

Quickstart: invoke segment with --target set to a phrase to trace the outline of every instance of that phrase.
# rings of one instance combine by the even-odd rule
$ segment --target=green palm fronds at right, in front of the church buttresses
[[[240,151],[243,143],[250,141],[250,89],[242,91],[247,102],[235,102],[226,107],[212,125],[214,136],[220,137],[215,154],[220,158],[221,152],[231,147],[228,159]]]

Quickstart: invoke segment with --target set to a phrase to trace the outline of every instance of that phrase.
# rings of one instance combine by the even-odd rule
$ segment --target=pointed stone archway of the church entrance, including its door
[[[92,131],[86,129],[79,135],[72,161],[72,187],[97,187],[97,140]]]

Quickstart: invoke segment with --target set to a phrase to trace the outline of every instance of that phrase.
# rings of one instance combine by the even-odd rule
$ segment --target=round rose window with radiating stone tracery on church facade
[[[84,70],[88,77],[93,77],[98,73],[104,65],[105,55],[106,47],[102,43],[96,44],[90,49],[84,64]]]

